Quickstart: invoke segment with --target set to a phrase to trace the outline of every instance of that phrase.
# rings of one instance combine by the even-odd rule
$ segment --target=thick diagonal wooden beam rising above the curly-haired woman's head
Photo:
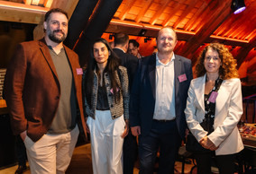
[[[211,34],[232,13],[230,9],[230,3],[231,0],[218,1],[218,7],[213,10],[211,16],[208,16],[205,25],[197,31],[197,34],[195,36],[187,41],[187,43],[184,45],[183,50],[180,51],[178,54],[192,59],[192,62],[195,63],[195,61],[193,60],[193,55],[194,53],[196,53],[197,48],[204,44],[206,39],[208,39]]]

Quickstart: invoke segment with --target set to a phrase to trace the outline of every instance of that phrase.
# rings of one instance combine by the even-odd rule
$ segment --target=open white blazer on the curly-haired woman
[[[205,118],[205,84],[206,75],[191,81],[185,109],[187,126],[198,142],[207,135],[200,126]],[[242,138],[237,128],[237,123],[242,116],[240,80],[237,78],[224,80],[215,102],[215,131],[208,135],[208,138],[218,146],[215,150],[216,155],[242,151]]]

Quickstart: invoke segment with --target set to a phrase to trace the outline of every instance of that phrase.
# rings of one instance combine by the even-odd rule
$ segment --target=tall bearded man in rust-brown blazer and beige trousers
[[[45,37],[18,45],[5,76],[5,99],[15,135],[26,146],[31,172],[65,173],[83,115],[82,69],[78,55],[62,42],[68,14],[51,9]]]

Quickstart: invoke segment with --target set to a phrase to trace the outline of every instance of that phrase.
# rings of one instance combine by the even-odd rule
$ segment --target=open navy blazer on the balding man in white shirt
[[[175,55],[174,72],[176,122],[179,135],[184,138],[187,127],[184,109],[187,102],[187,90],[193,78],[191,61]],[[178,76],[181,74],[186,74],[187,80],[179,83]],[[142,58],[142,63],[133,81],[130,99],[130,125],[141,126],[142,135],[148,135],[155,109],[156,55]]]

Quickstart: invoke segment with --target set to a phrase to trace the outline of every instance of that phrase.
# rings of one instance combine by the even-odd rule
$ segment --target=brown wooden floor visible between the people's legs
[[[85,144],[76,147],[72,160],[69,165],[69,169],[67,170],[67,174],[92,174],[92,162],[91,162],[91,151],[90,151],[90,144]],[[28,163],[27,163],[28,165]],[[191,168],[193,167],[192,164],[186,164],[185,165],[185,173],[189,173]],[[0,170],[0,174],[14,174],[15,170],[18,168],[17,165],[14,165],[13,167],[6,168],[4,170]],[[179,174],[181,173],[181,162],[176,161],[175,163],[175,173]],[[195,170],[196,171],[196,170]],[[23,172],[24,174],[30,174],[30,170],[26,170]],[[133,174],[138,174],[139,173],[139,164],[136,162]],[[194,173],[194,172],[193,172]],[[197,173],[197,172],[195,172]]]

